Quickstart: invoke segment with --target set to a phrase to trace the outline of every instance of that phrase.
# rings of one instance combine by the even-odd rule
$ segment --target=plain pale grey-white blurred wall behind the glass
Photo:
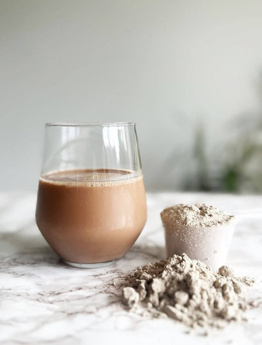
[[[135,121],[147,189],[180,188],[197,122],[212,153],[261,65],[261,0],[0,0],[0,190],[36,190],[57,121]]]

